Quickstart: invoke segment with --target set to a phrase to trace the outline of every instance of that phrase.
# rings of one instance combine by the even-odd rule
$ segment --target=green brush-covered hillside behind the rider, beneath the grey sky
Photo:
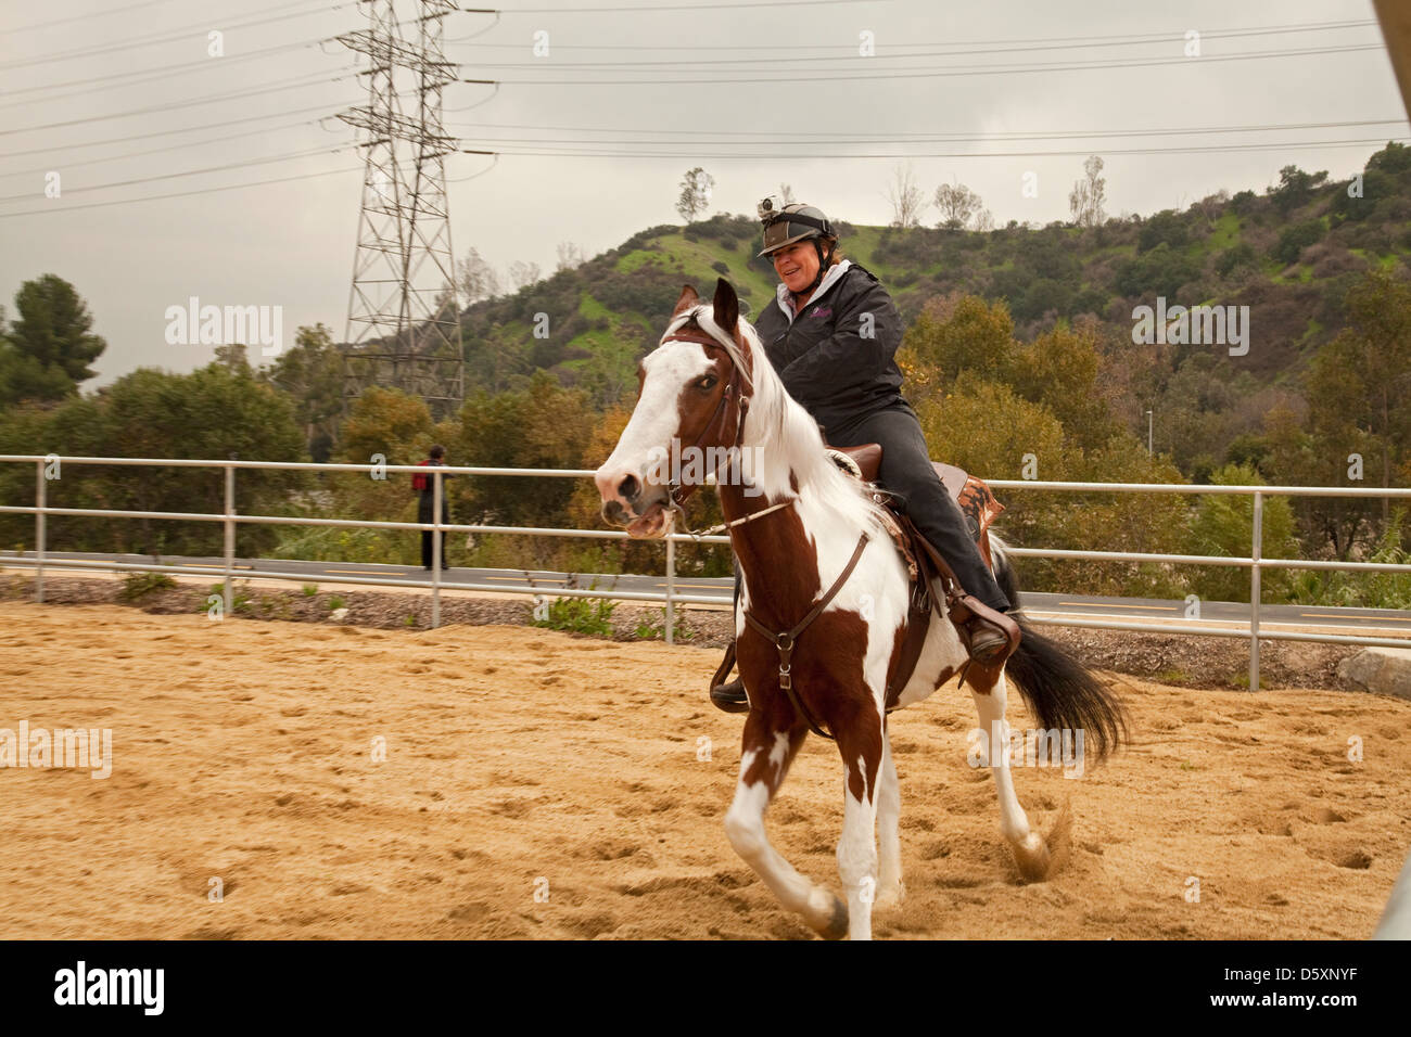
[[[471,306],[467,389],[498,392],[547,370],[598,406],[631,395],[636,361],[683,284],[708,291],[722,275],[756,315],[773,301],[777,278],[752,258],[758,227],[745,216],[649,227],[574,269]],[[842,253],[882,278],[907,323],[930,299],[967,293],[1005,301],[1022,340],[1094,325],[1113,370],[1115,411],[1144,439],[1153,409],[1157,449],[1204,477],[1273,404],[1298,409],[1302,372],[1348,323],[1348,289],[1369,269],[1403,272],[1411,148],[1388,144],[1352,181],[1285,166],[1263,195],[1221,192],[1184,212],[1094,227],[841,229]],[[1168,306],[1249,306],[1247,354],[1134,344],[1133,310],[1158,296]]]

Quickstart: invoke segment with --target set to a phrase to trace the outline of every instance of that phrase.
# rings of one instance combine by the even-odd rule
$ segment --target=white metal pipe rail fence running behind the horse
[[[440,591],[446,584],[442,581],[440,532],[466,533],[514,533],[521,536],[571,536],[584,539],[626,539],[626,533],[610,529],[550,529],[536,526],[495,526],[495,525],[467,525],[443,523],[442,494],[443,475],[519,475],[546,478],[591,478],[593,471],[584,468],[478,468],[478,467],[423,467],[412,464],[312,464],[296,461],[207,461],[185,459],[151,459],[151,457],[59,457],[56,454],[0,454],[0,463],[34,464],[35,466],[35,505],[0,504],[0,512],[34,515],[34,557],[6,559],[10,564],[32,566],[35,570],[35,598],[44,601],[44,571],[49,569],[102,569],[113,571],[147,571],[147,573],[183,573],[189,569],[179,566],[133,564],[123,562],[92,562],[71,559],[45,557],[45,516],[47,515],[85,515],[96,518],[148,518],[148,519],[179,519],[196,522],[220,522],[224,526],[224,574],[223,598],[229,612],[231,605],[231,581],[234,578],[236,562],[236,526],[248,525],[298,525],[298,526],[343,526],[353,529],[404,529],[404,530],[432,530],[432,574],[429,580],[392,580],[375,576],[325,576],[319,574],[319,583],[346,583],[384,587],[420,587],[432,593],[432,625],[440,625]],[[134,466],[134,467],[183,467],[183,468],[219,468],[224,473],[224,511],[220,514],[202,512],[161,512],[161,511],[117,511],[100,508],[55,508],[48,504],[48,484],[61,473],[63,464],[103,464],[103,466]],[[284,471],[363,471],[373,477],[388,474],[430,474],[433,477],[433,522],[375,522],[368,519],[320,519],[284,515],[240,515],[236,512],[236,473],[241,468],[278,468]],[[1259,689],[1259,646],[1261,641],[1309,641],[1331,645],[1376,645],[1391,648],[1407,648],[1411,641],[1395,638],[1363,638],[1338,633],[1305,633],[1300,631],[1270,631],[1260,629],[1260,574],[1264,569],[1336,569],[1349,571],[1376,573],[1411,573],[1411,564],[1391,564],[1376,562],[1319,562],[1304,559],[1266,559],[1261,557],[1260,545],[1263,542],[1264,498],[1267,497],[1374,497],[1411,499],[1411,490],[1387,488],[1345,488],[1345,487],[1222,487],[1222,485],[1194,485],[1168,483],[1040,483],[1031,480],[991,480],[995,490],[1040,490],[1057,492],[1134,492],[1134,494],[1233,494],[1253,497],[1253,529],[1250,540],[1250,554],[1247,557],[1206,556],[1206,554],[1147,554],[1139,552],[1105,552],[1105,550],[1058,550],[1046,547],[1009,547],[1013,557],[1041,557],[1041,559],[1081,559],[1094,562],[1157,562],[1168,564],[1197,564],[1197,566],[1239,566],[1250,570],[1250,614],[1245,626],[1209,626],[1201,625],[1199,619],[1165,622],[1165,624],[1137,624],[1110,619],[1084,619],[1074,617],[1040,618],[1030,617],[1034,624],[1051,624],[1058,626],[1085,626],[1108,631],[1140,631],[1146,633],[1185,633],[1215,638],[1247,638],[1250,641],[1249,686]],[[698,594],[676,593],[676,545],[677,543],[729,543],[728,536],[691,536],[689,533],[674,533],[666,540],[666,593],[652,594],[641,591],[618,590],[581,590],[571,587],[529,587],[515,588],[498,584],[456,583],[454,590],[464,591],[494,591],[497,594],[552,594],[557,597],[580,598],[612,598],[621,601],[653,601],[666,607],[665,633],[667,643],[673,642],[676,605],[718,605],[718,598]],[[306,574],[279,573],[272,570],[241,569],[243,578],[289,580],[295,583],[308,581]]]

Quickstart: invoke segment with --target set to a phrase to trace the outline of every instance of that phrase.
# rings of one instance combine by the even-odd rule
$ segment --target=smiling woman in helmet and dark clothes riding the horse
[[[1010,601],[931,467],[921,423],[902,396],[895,360],[902,317],[892,296],[873,274],[838,255],[837,230],[814,206],[779,209],[766,198],[759,219],[765,224],[759,257],[772,258],[782,282],[776,305],[755,322],[770,363],[830,446],[882,444],[878,483],[902,497],[913,525],[967,591],[952,600],[951,619],[971,659],[1002,663],[1019,645],[1019,626],[1005,615]],[[738,679],[714,686],[711,701],[727,712],[749,710]]]

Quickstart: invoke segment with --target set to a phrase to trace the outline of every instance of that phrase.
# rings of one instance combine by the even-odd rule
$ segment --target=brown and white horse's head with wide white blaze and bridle
[[[682,289],[660,344],[638,364],[632,418],[594,475],[610,525],[666,536],[676,508],[738,449],[752,365],[739,323],[724,278],[708,306]]]

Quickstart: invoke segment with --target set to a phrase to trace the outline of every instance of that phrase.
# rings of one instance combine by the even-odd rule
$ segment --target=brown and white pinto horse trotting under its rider
[[[725,831],[735,851],[813,930],[832,938],[869,938],[873,906],[888,907],[902,897],[900,797],[886,717],[958,673],[965,649],[948,621],[931,622],[912,680],[888,701],[889,674],[907,624],[906,569],[865,485],[828,459],[817,423],[785,391],[755,329],[739,317],[729,284],[717,284],[711,305],[687,285],[660,346],[638,374],[636,408],[595,475],[608,522],[626,526],[634,536],[665,536],[680,501],[698,485],[673,484],[667,468],[693,470],[693,459],[680,459],[682,453],[711,451],[707,456],[720,459],[734,446],[753,460],[744,466],[748,474],[739,467],[717,473],[721,507],[734,523],[731,546],[744,573],[737,648],[751,700]],[[663,451],[680,463],[663,466]],[[856,562],[851,571],[849,559]],[[748,614],[769,631],[789,631],[830,590],[835,595],[797,633],[787,666],[779,645],[746,624]],[[944,600],[938,588],[934,600]],[[1123,729],[1120,705],[1053,642],[1026,629],[1007,669],[1044,728],[1084,731],[1099,759],[1116,748]],[[971,666],[967,680],[981,728],[988,734],[1005,725],[1005,667]],[[765,834],[765,811],[813,721],[837,739],[845,769],[838,842],[845,904],[794,871]],[[1020,872],[1043,879],[1048,848],[1019,806],[1007,753],[991,765],[1000,831]]]

